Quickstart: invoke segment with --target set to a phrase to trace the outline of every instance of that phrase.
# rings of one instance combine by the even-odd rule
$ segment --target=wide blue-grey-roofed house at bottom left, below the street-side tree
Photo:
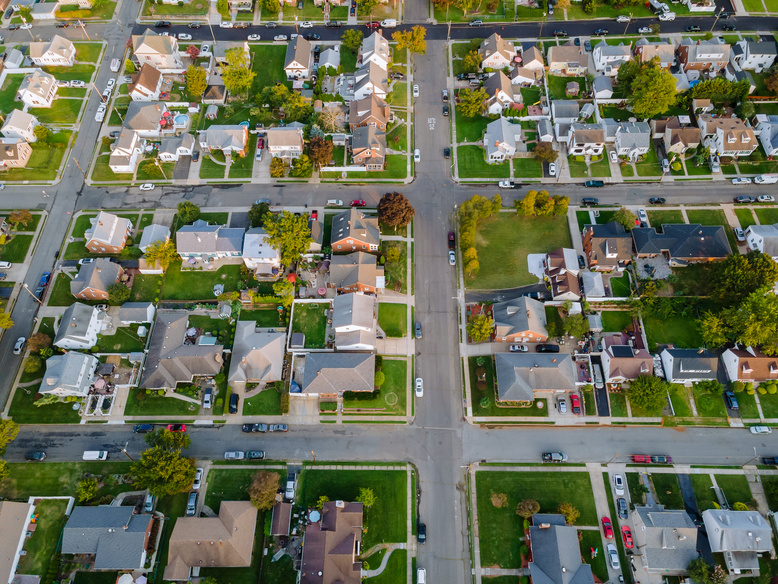
[[[62,553],[94,556],[93,570],[144,570],[154,516],[134,507],[74,507],[62,530]]]

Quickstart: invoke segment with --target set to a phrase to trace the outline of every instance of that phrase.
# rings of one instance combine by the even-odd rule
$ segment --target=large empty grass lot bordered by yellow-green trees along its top
[[[566,217],[520,217],[496,213],[478,223],[476,250],[481,269],[466,284],[475,289],[512,288],[534,284],[527,254],[570,247]]]

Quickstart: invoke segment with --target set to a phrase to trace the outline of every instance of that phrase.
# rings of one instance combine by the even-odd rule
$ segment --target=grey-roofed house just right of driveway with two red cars
[[[649,574],[680,576],[699,557],[699,529],[686,511],[662,505],[635,507],[632,512],[633,553]]]

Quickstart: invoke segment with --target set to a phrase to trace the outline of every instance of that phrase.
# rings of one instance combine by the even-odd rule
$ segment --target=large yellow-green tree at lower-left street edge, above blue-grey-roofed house
[[[148,489],[152,495],[164,497],[189,490],[195,468],[181,451],[155,446],[145,450],[132,464],[130,474],[137,489]]]

